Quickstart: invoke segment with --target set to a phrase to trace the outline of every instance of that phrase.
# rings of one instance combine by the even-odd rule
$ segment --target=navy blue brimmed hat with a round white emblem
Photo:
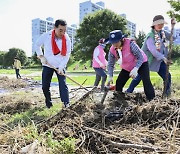
[[[122,40],[124,37],[126,37],[126,35],[123,35],[121,30],[114,30],[109,33],[108,43],[111,43],[111,44],[117,43],[120,40]]]

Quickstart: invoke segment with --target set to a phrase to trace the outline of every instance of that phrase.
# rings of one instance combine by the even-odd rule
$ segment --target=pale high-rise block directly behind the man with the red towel
[[[40,18],[36,18],[32,20],[32,55],[35,53],[35,43],[37,39],[43,34],[54,28],[54,19],[52,17],[46,18],[46,20],[42,20]],[[72,42],[72,50],[74,46],[74,36],[76,35],[76,25],[67,26],[67,34],[69,35]]]

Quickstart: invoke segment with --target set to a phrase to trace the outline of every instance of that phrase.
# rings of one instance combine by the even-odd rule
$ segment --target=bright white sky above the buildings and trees
[[[53,17],[63,18],[68,25],[79,22],[79,3],[86,0],[0,0],[0,51],[16,47],[31,55],[31,20]],[[92,0],[97,2],[98,0]],[[127,19],[136,23],[137,30],[148,32],[155,15],[161,14],[170,23],[166,12],[170,9],[167,0],[102,0],[105,7],[125,13]],[[170,24],[168,24],[170,27]],[[180,28],[180,24],[176,24]]]

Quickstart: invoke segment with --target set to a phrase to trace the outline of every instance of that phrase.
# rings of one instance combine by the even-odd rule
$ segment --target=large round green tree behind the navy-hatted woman
[[[98,40],[107,38],[112,30],[121,29],[123,33],[126,33],[126,24],[126,19],[108,9],[87,15],[80,24],[75,37],[76,43],[72,53],[75,60],[92,59]]]

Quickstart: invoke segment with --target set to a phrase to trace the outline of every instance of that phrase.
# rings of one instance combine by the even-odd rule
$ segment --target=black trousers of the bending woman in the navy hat
[[[117,80],[116,80],[116,90],[121,91],[123,90],[124,85],[128,81],[129,77],[128,71],[122,69]],[[150,75],[149,75],[149,66],[148,62],[145,62],[141,65],[141,67],[138,70],[138,74],[141,76],[141,79],[143,81],[143,87],[144,92],[146,95],[146,98],[148,100],[152,100],[155,97],[154,88],[152,86]]]

